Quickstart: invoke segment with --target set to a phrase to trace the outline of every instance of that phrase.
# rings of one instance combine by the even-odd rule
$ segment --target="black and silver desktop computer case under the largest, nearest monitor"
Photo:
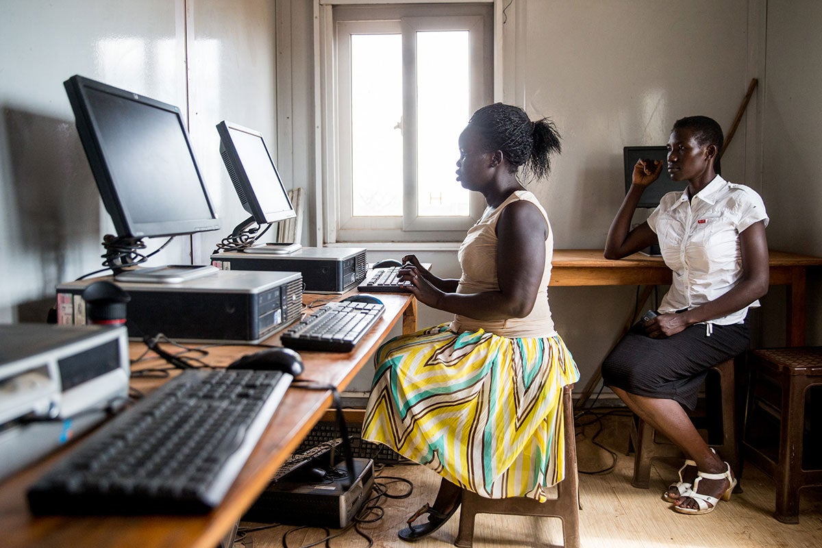
[[[85,324],[83,290],[108,280],[127,292],[130,338],[162,333],[176,341],[259,343],[300,319],[298,272],[230,272],[181,283],[121,283],[112,277],[58,285],[58,324]]]

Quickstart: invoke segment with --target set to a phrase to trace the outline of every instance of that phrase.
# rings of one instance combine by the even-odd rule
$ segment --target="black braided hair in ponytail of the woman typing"
[[[469,120],[487,150],[501,150],[515,172],[521,165],[537,178],[551,171],[551,155],[562,150],[560,134],[548,118],[531,122],[520,107],[495,103],[480,108]]]

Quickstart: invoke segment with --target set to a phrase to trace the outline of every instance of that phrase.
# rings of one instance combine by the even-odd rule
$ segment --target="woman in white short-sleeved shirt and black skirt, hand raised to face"
[[[605,256],[621,259],[658,240],[673,271],[653,319],[626,334],[603,363],[603,381],[642,419],[687,455],[679,481],[663,499],[681,513],[708,513],[727,500],[737,480],[713,453],[684,408],[693,409],[711,366],[748,345],[748,308],[768,291],[768,244],[762,199],[727,182],[713,168],[723,134],[709,117],[677,120],[668,140],[667,170],[687,181],[663,196],[647,222],[629,230],[644,189],[663,162],[640,159],[608,231]]]

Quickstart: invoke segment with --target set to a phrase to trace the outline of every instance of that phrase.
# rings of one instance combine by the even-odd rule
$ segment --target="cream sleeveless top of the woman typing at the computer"
[[[455,315],[450,329],[456,333],[485,329],[488,333],[510,338],[556,335],[547,294],[548,281],[551,279],[554,235],[543,206],[530,191],[515,191],[495,209],[486,210],[483,218],[468,231],[457,255],[459,266],[462,268],[457,292],[467,294],[499,290],[499,283],[496,280],[496,223],[502,210],[517,200],[526,200],[536,205],[548,226],[548,237],[545,240],[545,269],[533,310],[524,318],[508,320],[474,320],[468,316]]]

